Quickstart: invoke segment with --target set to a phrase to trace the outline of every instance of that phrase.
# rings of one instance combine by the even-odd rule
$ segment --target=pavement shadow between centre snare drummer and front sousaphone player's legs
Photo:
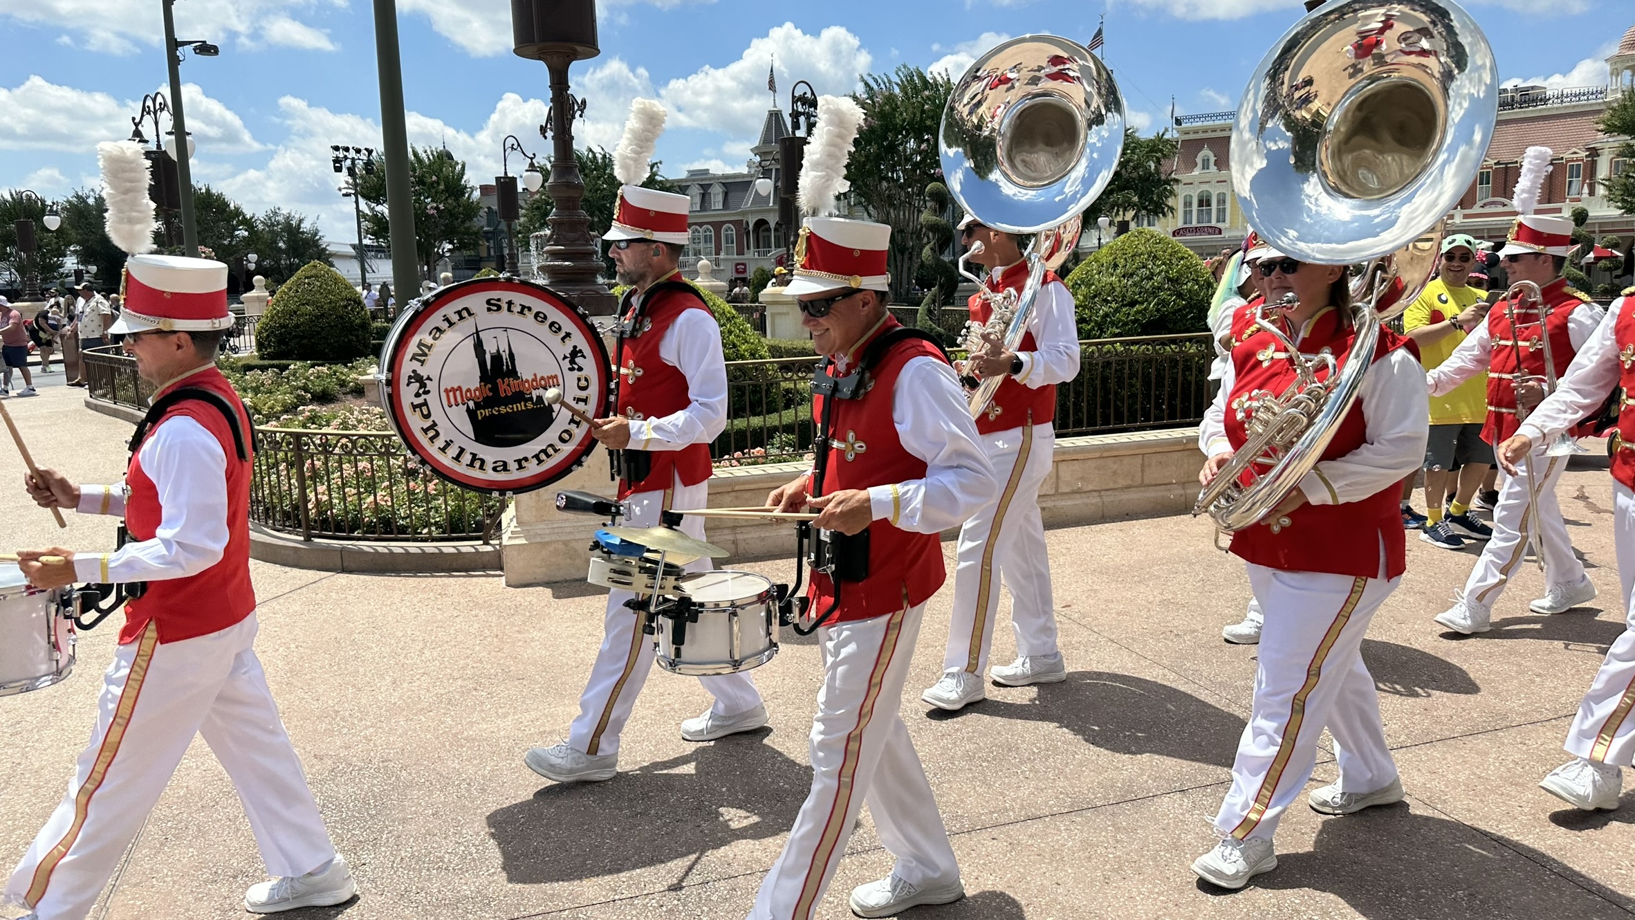
[[[1041,683],[1030,703],[988,698],[968,711],[1001,719],[1055,722],[1115,753],[1156,753],[1231,768],[1244,721],[1213,703],[1153,680],[1107,672],[1069,672]],[[927,717],[958,712],[932,709]]]

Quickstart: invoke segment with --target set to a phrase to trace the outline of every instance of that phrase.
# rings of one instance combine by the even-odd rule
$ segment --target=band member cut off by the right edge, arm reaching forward
[[[1625,291],[1628,294],[1628,291]],[[1635,297],[1620,297],[1596,327],[1561,377],[1560,386],[1527,417],[1516,435],[1499,444],[1499,464],[1514,479],[1516,466],[1537,456],[1535,448],[1570,431],[1594,413],[1612,387],[1624,387],[1612,451],[1614,541],[1619,556],[1619,583],[1624,588],[1625,629],[1607,649],[1607,657],[1578,706],[1566,732],[1563,763],[1542,786],[1566,804],[1584,809],[1615,809],[1624,791],[1624,766],[1635,761]]]

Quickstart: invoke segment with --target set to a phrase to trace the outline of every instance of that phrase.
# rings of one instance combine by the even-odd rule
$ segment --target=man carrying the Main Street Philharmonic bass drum
[[[710,503],[710,443],[726,427],[726,361],[721,327],[710,306],[677,270],[687,247],[685,194],[641,188],[652,144],[664,126],[664,108],[636,100],[625,142],[618,149],[618,212],[602,239],[629,284],[620,306],[621,328],[618,402],[598,418],[594,436],[613,456],[625,526],[657,526],[659,513]],[[682,531],[705,538],[703,518],[688,516]],[[711,567],[700,559],[687,570]],[[558,783],[611,779],[618,771],[618,740],[641,686],[652,670],[652,639],[625,606],[631,592],[608,592],[605,636],[579,698],[579,717],[567,740],[531,748],[523,761]],[[701,677],[714,696],[697,719],[682,722],[682,737],[706,742],[767,724],[767,709],[749,672]]]

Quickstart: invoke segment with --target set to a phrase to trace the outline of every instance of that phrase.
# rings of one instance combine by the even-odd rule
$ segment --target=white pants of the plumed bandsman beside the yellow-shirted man
[[[1499,505],[1493,508],[1493,538],[1476,559],[1476,567],[1465,580],[1465,600],[1491,610],[1504,593],[1504,583],[1517,572],[1527,556],[1527,533],[1537,533],[1539,552],[1543,554],[1545,585],[1576,585],[1584,577],[1584,564],[1573,554],[1573,538],[1566,536],[1561,505],[1555,500],[1555,484],[1566,471],[1566,458],[1548,458],[1543,448],[1527,461],[1539,482],[1537,523],[1527,500],[1527,471],[1507,476],[1499,471]]]

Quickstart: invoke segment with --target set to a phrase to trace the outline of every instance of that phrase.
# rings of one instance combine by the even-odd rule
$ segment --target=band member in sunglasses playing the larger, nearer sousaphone
[[[1351,360],[1351,296],[1342,266],[1267,255],[1265,299],[1293,293],[1287,335],[1305,355]],[[1283,392],[1295,368],[1269,332],[1233,348],[1221,392],[1198,435],[1208,485],[1246,440],[1254,394]],[[1339,779],[1310,796],[1323,814],[1352,814],[1403,797],[1385,744],[1373,678],[1362,662],[1368,621],[1406,569],[1398,495],[1426,448],[1427,404],[1406,340],[1380,330],[1357,404],[1323,459],[1264,521],[1233,534],[1265,613],[1249,724],[1215,827],[1221,842],[1192,871],[1238,889],[1277,868],[1272,833],[1311,776],[1318,739],[1336,740]]]

